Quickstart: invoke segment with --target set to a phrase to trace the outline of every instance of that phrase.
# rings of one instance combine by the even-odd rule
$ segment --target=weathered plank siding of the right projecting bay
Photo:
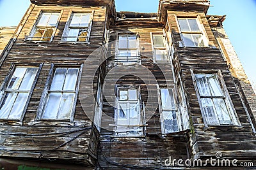
[[[189,11],[167,9],[166,16],[170,27],[172,27],[173,41],[175,41],[175,55],[173,57],[175,76],[178,78],[180,74],[182,78],[189,117],[193,123],[191,126],[192,133],[189,146],[191,159],[200,158],[206,160],[210,157],[215,157],[216,152],[223,152],[223,156],[225,157],[255,161],[255,159],[253,159],[253,157],[255,157],[254,151],[256,149],[255,134],[236,88],[234,77],[232,77],[232,74],[230,73],[227,61],[223,58],[216,38],[205,17],[205,12],[196,9],[198,8],[195,8],[195,10],[189,9]],[[191,48],[179,46],[178,42],[182,41],[182,39],[180,38],[176,17],[191,16],[199,16],[200,23],[204,26],[205,32],[207,33],[210,47]],[[241,127],[205,127],[202,111],[200,111],[199,101],[196,96],[195,85],[193,84],[191,76],[191,70],[196,69],[208,71],[221,70],[225,85],[228,89],[228,94],[234,104]],[[246,135],[246,137],[243,137],[244,135]]]

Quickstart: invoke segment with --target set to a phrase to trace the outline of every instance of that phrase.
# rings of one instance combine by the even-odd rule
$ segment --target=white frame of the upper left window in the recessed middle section
[[[136,37],[136,47],[134,48],[120,48],[120,36],[127,36],[127,41],[129,41],[129,36],[134,36]],[[117,34],[117,41],[116,41],[116,54],[115,54],[115,65],[116,64],[134,64],[138,63],[140,64],[140,38],[138,34]],[[128,43],[127,43],[128,44]],[[134,52],[130,52],[129,55],[120,55],[121,50],[127,50],[127,54],[129,53],[129,50],[132,50]]]

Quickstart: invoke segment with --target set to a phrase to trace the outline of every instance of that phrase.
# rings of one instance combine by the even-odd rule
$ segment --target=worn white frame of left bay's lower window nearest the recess
[[[77,81],[76,81],[76,87],[75,90],[51,90],[51,83],[52,80],[54,78],[54,73],[56,71],[56,69],[61,69],[61,68],[65,68],[65,69],[79,69],[78,74],[77,74]],[[69,66],[54,66],[54,64],[52,64],[51,69],[49,71],[49,76],[47,78],[47,81],[45,83],[45,89],[44,92],[42,94],[41,100],[40,100],[40,104],[38,106],[38,111],[37,111],[37,117],[36,120],[53,120],[53,121],[69,121],[69,122],[73,122],[74,120],[74,113],[76,110],[76,102],[77,102],[77,95],[78,95],[78,91],[79,91],[79,83],[81,81],[81,74],[82,74],[82,70],[83,70],[83,64],[80,67],[74,66],[74,65],[69,65]],[[67,75],[67,73],[65,74]],[[65,77],[66,78],[66,77]],[[65,82],[65,80],[64,80]],[[64,83],[63,83],[64,84]],[[72,103],[72,110],[70,111],[70,115],[69,118],[58,118],[59,115],[59,109],[60,107],[57,108],[57,115],[56,118],[44,118],[44,111],[45,108],[47,107],[47,102],[49,99],[49,95],[52,93],[61,93],[61,96],[63,93],[72,93],[74,94],[74,101]],[[60,106],[61,104],[61,100],[58,106]]]

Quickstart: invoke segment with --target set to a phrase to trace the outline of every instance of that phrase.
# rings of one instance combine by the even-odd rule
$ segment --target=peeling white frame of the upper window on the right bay
[[[186,19],[187,23],[188,23],[188,19],[195,19],[196,20],[196,24],[199,28],[200,31],[182,31],[180,28],[180,24],[179,24],[179,19]],[[180,32],[180,38],[182,39],[182,45],[185,47],[208,47],[209,46],[209,40],[207,39],[207,34],[205,33],[204,30],[204,26],[200,23],[200,17],[177,17],[176,16],[176,22],[179,28],[179,32]],[[189,24],[188,24],[189,25]],[[191,27],[189,25],[189,29],[191,30]],[[194,45],[186,45],[185,43],[185,38],[183,34],[196,34],[196,35],[201,35],[200,38],[200,42],[198,43],[198,45],[195,45],[195,41],[193,41]],[[191,40],[193,40],[193,37],[191,38]],[[201,43],[204,43],[204,46],[200,46]]]

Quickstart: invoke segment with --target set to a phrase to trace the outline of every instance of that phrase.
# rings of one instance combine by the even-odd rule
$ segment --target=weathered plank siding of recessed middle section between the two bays
[[[165,138],[161,135],[160,114],[158,108],[157,83],[161,87],[174,87],[172,65],[170,62],[157,64],[153,61],[150,32],[163,33],[164,25],[157,20],[120,20],[111,25],[109,31],[108,61],[106,63],[106,78],[103,103],[102,124],[100,132],[99,166],[102,168],[145,168],[156,169],[161,167],[160,162],[168,159],[170,155],[179,159],[188,159],[188,138],[186,134],[179,137],[172,135]],[[114,65],[116,43],[118,34],[140,35],[141,64]],[[145,67],[152,76],[145,76],[147,72],[141,69]],[[111,72],[111,69],[115,71]],[[163,74],[164,72],[164,74]],[[168,76],[166,76],[168,75]],[[164,77],[166,76],[166,77]],[[156,80],[156,81],[155,81]],[[151,83],[150,83],[151,82]],[[144,137],[126,138],[116,137],[113,133],[115,124],[115,103],[109,103],[106,98],[114,98],[115,94],[108,94],[115,89],[115,85],[140,85],[141,102],[147,104],[145,111],[147,124]],[[148,90],[153,92],[149,94]],[[109,95],[109,96],[108,96]],[[148,98],[148,96],[150,97]],[[157,107],[156,107],[157,106]]]

